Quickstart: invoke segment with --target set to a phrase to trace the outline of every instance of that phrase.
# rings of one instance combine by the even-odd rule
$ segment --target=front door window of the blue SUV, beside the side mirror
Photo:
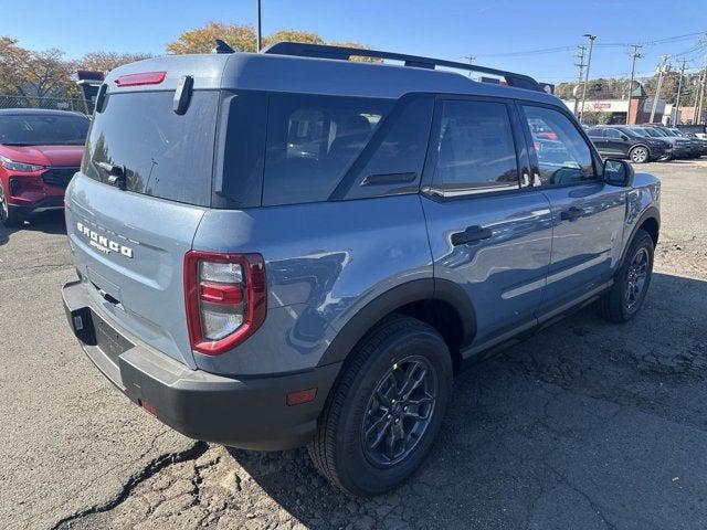
[[[562,186],[595,179],[592,153],[567,116],[551,108],[524,106],[540,170],[536,186]]]

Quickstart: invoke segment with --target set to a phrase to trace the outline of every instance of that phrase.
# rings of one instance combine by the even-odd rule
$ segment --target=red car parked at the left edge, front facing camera
[[[0,110],[0,222],[17,226],[32,213],[64,208],[78,171],[89,119],[64,110]]]

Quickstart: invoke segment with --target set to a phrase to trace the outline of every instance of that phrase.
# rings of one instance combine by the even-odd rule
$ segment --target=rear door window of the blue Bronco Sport
[[[503,103],[442,102],[434,186],[454,197],[519,187],[510,118]]]

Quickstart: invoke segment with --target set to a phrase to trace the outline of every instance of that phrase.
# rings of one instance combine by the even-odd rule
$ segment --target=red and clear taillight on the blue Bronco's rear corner
[[[267,314],[263,256],[189,251],[184,298],[192,350],[218,356],[234,348]]]

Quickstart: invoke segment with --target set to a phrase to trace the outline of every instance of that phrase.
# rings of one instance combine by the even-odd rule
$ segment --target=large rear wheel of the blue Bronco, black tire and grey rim
[[[419,384],[408,400],[402,392],[402,401],[394,401],[395,391],[405,389],[405,377]],[[394,489],[424,462],[451,390],[452,358],[440,333],[414,318],[386,318],[347,360],[308,445],[309,456],[321,475],[349,495],[370,497]],[[408,446],[393,437],[401,428],[410,431]]]

